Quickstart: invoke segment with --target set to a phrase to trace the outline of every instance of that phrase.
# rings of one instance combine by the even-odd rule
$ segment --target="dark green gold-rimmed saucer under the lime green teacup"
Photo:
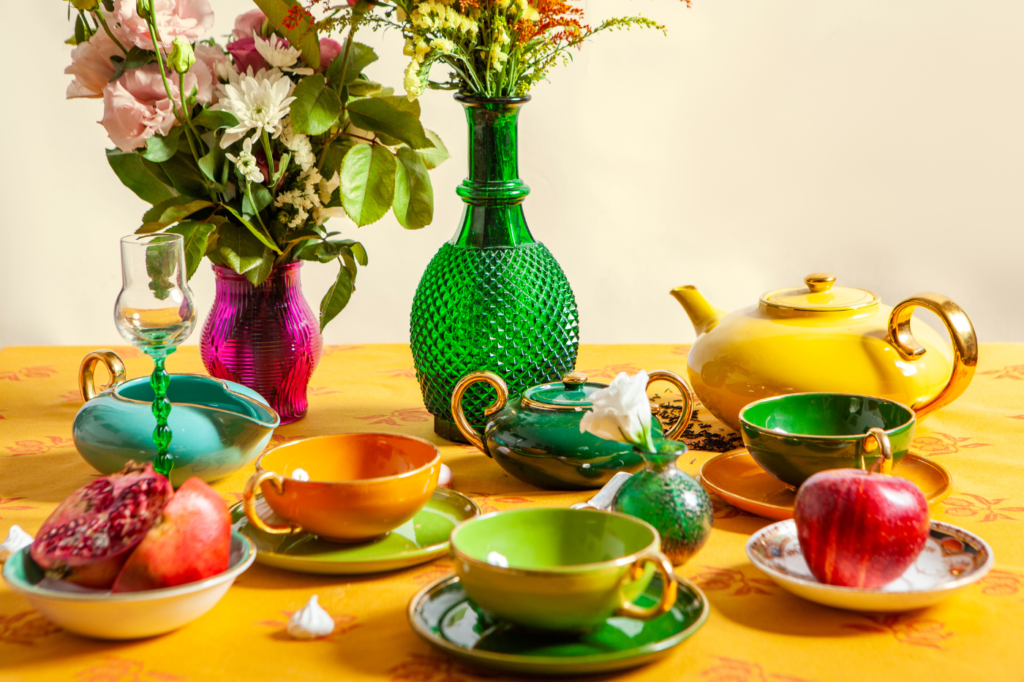
[[[655,578],[636,603],[651,606],[660,595],[662,581]],[[676,605],[656,619],[612,617],[585,633],[530,632],[476,606],[452,576],[413,597],[409,622],[429,644],[467,664],[555,676],[609,673],[650,663],[695,633],[708,612],[703,593],[680,580]]]

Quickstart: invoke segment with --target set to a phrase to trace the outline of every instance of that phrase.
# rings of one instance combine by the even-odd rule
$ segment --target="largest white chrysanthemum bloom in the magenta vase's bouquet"
[[[288,116],[295,101],[295,97],[291,96],[294,87],[292,81],[276,70],[265,74],[260,70],[255,77],[250,72],[240,76],[237,83],[222,84],[220,90],[223,95],[211,109],[233,114],[239,125],[224,131],[221,148],[242,139],[250,130],[254,131],[253,140],[259,139],[264,130],[271,137],[280,135],[282,119]]]

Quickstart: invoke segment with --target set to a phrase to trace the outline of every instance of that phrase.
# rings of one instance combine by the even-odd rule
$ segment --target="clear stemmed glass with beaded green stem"
[[[167,417],[171,377],[164,369],[167,356],[196,327],[196,304],[185,278],[184,239],[180,235],[132,235],[121,240],[121,293],[114,307],[118,331],[128,343],[153,358],[153,415],[157,428],[154,469],[170,476],[174,466],[167,451],[171,429]]]

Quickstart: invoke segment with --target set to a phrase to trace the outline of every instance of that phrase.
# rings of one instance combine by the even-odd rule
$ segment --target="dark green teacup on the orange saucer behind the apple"
[[[826,469],[869,470],[885,452],[888,473],[913,440],[916,418],[904,404],[848,393],[791,393],[739,412],[751,457],[783,483],[799,487]]]

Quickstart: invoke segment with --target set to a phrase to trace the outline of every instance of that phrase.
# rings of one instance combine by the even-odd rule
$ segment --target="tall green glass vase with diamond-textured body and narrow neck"
[[[427,266],[413,300],[412,346],[434,431],[464,441],[452,418],[452,391],[471,372],[502,377],[509,398],[561,379],[575,366],[575,297],[551,252],[526,226],[519,179],[519,109],[529,97],[456,95],[469,123],[469,176],[456,190],[462,225]],[[494,389],[476,384],[463,406],[481,428]]]

